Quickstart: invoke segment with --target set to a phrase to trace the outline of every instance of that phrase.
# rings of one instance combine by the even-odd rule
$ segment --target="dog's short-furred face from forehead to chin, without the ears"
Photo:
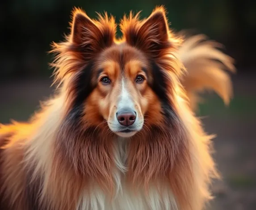
[[[143,128],[149,100],[155,101],[148,85],[148,61],[142,52],[122,43],[104,50],[96,64],[97,87],[91,98],[109,129],[130,137]]]

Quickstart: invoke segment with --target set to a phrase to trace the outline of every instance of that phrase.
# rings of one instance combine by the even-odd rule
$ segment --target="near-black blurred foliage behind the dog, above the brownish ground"
[[[49,76],[52,41],[63,40],[69,32],[71,10],[83,8],[95,18],[96,12],[112,14],[119,22],[130,10],[150,15],[157,5],[168,10],[176,31],[192,29],[222,42],[238,66],[254,65],[256,1],[248,0],[5,0],[0,3],[0,79]],[[120,32],[119,32],[120,35]],[[48,69],[48,70],[47,70]]]

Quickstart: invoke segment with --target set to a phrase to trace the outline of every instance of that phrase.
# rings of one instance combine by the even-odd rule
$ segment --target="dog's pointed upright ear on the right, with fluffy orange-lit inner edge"
[[[163,7],[156,8],[143,21],[135,17],[124,17],[121,29],[128,44],[142,49],[153,57],[160,56],[162,50],[174,47],[178,40],[171,34]]]

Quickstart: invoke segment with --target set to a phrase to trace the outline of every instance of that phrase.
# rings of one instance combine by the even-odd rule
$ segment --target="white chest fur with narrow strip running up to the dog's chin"
[[[77,210],[177,210],[175,199],[170,189],[159,192],[153,187],[148,194],[143,190],[134,194],[122,181],[126,174],[126,141],[118,139],[115,148],[115,163],[117,170],[114,172],[116,182],[116,195],[109,200],[109,195],[95,186],[90,194],[82,194],[77,205]]]

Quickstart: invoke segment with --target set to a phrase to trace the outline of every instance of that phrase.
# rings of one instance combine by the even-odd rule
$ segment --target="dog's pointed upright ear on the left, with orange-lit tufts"
[[[71,42],[82,52],[97,52],[113,44],[116,26],[114,18],[99,15],[98,20],[90,19],[85,12],[75,8],[71,23]]]

